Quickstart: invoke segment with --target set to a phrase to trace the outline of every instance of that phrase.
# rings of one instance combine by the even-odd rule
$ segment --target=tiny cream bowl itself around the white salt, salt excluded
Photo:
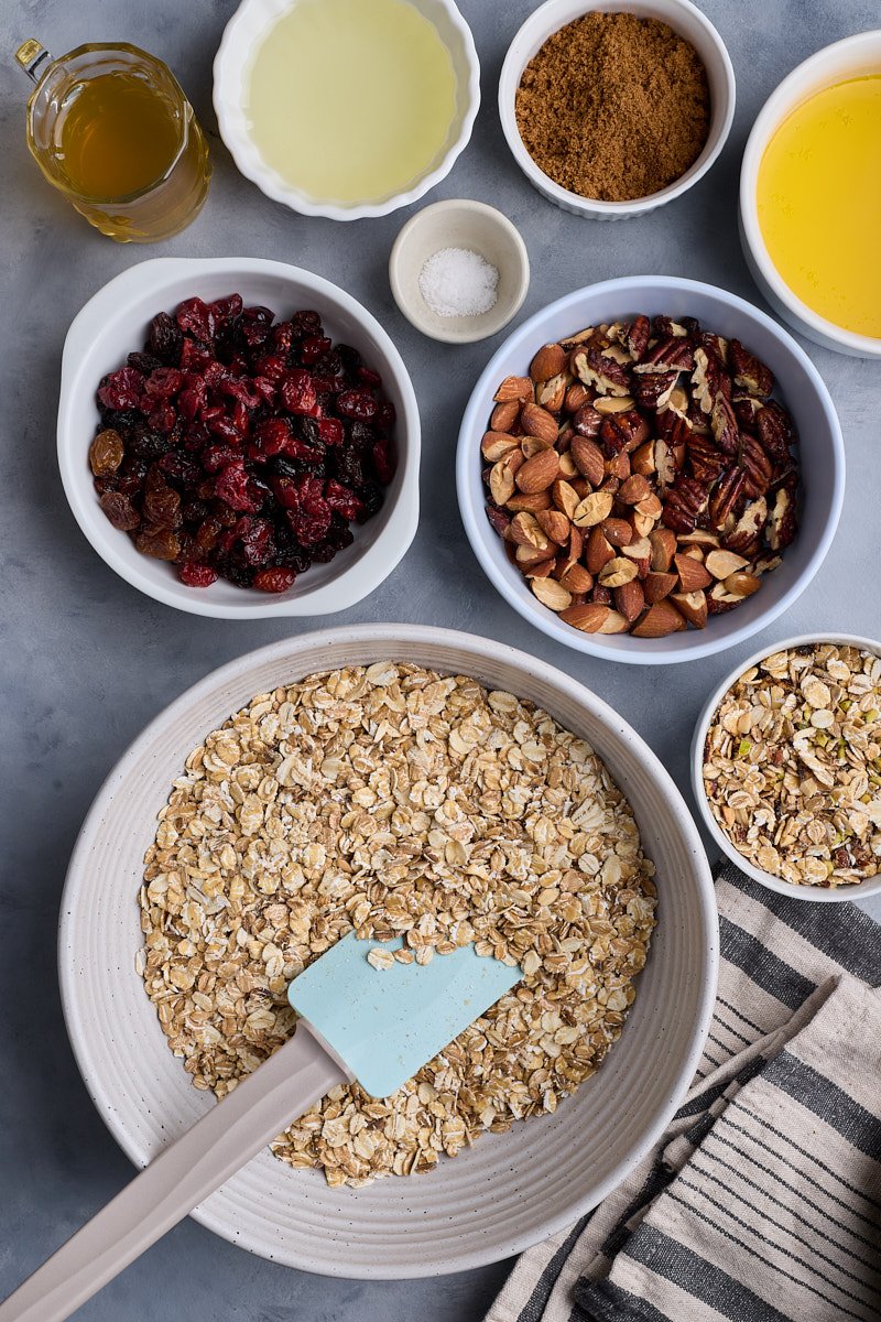
[[[489,312],[441,317],[428,305],[419,276],[429,256],[445,247],[469,249],[497,268],[497,299]],[[395,303],[423,334],[473,344],[497,334],[519,312],[530,287],[530,255],[507,215],[486,202],[449,198],[424,206],[402,227],[388,256],[388,283]]]

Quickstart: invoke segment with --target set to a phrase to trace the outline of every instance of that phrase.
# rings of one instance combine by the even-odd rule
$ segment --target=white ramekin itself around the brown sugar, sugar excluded
[[[689,41],[707,69],[711,99],[709,135],[695,164],[667,188],[631,202],[601,202],[571,193],[555,184],[535,164],[516,127],[515,98],[523,70],[549,36],[565,28],[585,13],[634,13],[641,19],[658,19],[680,37]],[[534,188],[564,212],[586,215],[594,221],[622,221],[631,215],[645,215],[655,208],[672,202],[696,184],[713,164],[732,127],[734,118],[734,70],[722,38],[709,19],[689,0],[546,0],[531,13],[509,46],[499,78],[499,118],[502,132],[514,160]]]

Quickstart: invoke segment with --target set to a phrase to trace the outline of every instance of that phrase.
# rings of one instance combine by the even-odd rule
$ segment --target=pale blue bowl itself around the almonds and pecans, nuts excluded
[[[803,508],[798,537],[779,568],[759,592],[736,611],[716,615],[705,629],[687,629],[666,639],[604,637],[580,633],[542,605],[505,554],[505,545],[486,518],[481,480],[481,436],[493,411],[493,395],[503,377],[523,375],[535,350],[581,327],[649,316],[697,317],[707,329],[737,336],[774,373],[777,393],[790,410],[799,434]],[[458,506],[474,554],[509,605],[543,633],[579,652],[627,661],[666,665],[693,661],[734,646],[763,629],[796,600],[819,570],[829,549],[844,498],[844,442],[835,406],[816,368],[803,349],[771,317],[752,303],[712,284],[667,275],[633,275],[576,290],[536,312],[490,358],[462,418],[456,460]]]

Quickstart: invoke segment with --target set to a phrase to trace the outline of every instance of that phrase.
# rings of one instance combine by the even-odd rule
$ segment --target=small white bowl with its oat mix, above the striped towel
[[[881,892],[881,644],[785,639],[711,694],[692,740],[707,830],[742,871],[800,900]]]

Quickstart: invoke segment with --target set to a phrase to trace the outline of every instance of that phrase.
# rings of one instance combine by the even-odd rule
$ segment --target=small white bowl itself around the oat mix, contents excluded
[[[748,858],[744,858],[738,853],[737,846],[728,838],[713,817],[707,791],[704,789],[704,743],[712,719],[716,715],[716,709],[732,685],[737,683],[750,666],[754,666],[758,661],[763,661],[766,657],[774,656],[775,652],[787,652],[790,648],[800,648],[807,644],[819,645],[823,642],[847,644],[848,646],[861,648],[864,652],[873,652],[876,656],[881,656],[881,642],[860,637],[855,633],[799,633],[798,637],[783,639],[773,648],[766,645],[761,652],[754,652],[746,660],[740,661],[737,668],[713,689],[697,718],[691,742],[691,787],[704,826],[716,845],[719,845],[722,853],[728,854],[730,861],[740,867],[741,873],[746,873],[759,886],[766,886],[769,891],[777,891],[778,895],[791,895],[796,900],[820,900],[826,903],[836,900],[866,900],[870,895],[881,894],[881,873],[877,876],[868,878],[865,882],[859,882],[856,886],[836,886],[833,890],[827,890],[822,886],[794,886],[791,882],[785,882],[782,876],[774,876],[773,873],[766,873],[762,867],[756,867],[754,863],[750,863]]]

